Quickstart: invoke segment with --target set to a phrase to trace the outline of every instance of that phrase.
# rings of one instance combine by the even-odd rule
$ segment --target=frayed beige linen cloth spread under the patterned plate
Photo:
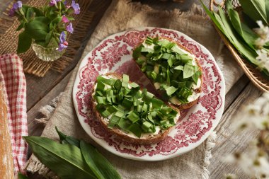
[[[222,69],[227,92],[243,74],[227,48],[224,47],[202,8],[197,5],[194,5],[190,11],[182,13],[178,10],[157,11],[139,3],[115,0],[105,12],[91,40],[88,41],[83,57],[106,36],[142,26],[178,30],[207,47]],[[101,153],[117,168],[122,178],[209,178],[210,173],[207,171],[207,167],[210,164],[211,149],[214,147],[214,132],[205,142],[188,154],[158,162],[132,161],[121,158],[110,154],[94,143],[79,124],[71,98],[77,68],[71,75],[67,88],[59,98],[57,108],[50,117],[42,136],[58,139],[55,132],[55,126],[57,126],[65,134],[95,144]],[[42,166],[35,156],[31,156],[27,169],[32,172],[38,171],[41,175],[52,176],[52,173]]]

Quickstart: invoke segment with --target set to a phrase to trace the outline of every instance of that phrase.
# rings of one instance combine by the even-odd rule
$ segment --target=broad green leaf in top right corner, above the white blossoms
[[[252,18],[253,21],[263,21],[268,25],[265,0],[239,0],[243,11]]]

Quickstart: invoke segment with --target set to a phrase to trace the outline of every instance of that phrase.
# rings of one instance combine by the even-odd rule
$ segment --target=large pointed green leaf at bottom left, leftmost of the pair
[[[62,179],[96,178],[78,147],[59,144],[45,137],[23,137],[33,154]]]

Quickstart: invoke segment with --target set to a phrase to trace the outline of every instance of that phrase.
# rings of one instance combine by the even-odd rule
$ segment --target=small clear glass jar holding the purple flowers
[[[51,40],[53,41],[53,40]],[[45,62],[52,62],[56,59],[59,59],[64,54],[65,50],[59,52],[57,43],[50,43],[47,47],[43,47],[41,45],[33,42],[32,45],[33,50],[35,51],[36,56]]]

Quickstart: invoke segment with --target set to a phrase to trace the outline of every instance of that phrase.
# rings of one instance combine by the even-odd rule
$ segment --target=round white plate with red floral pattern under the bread
[[[168,37],[187,47],[202,65],[203,85],[198,103],[181,112],[181,120],[158,144],[137,145],[123,142],[106,132],[93,115],[91,93],[99,74],[115,71],[128,74],[154,93],[154,87],[132,60],[132,50],[148,35]],[[87,134],[108,151],[134,160],[161,161],[184,154],[200,145],[219,123],[224,110],[225,85],[222,72],[210,52],[187,35],[164,28],[136,28],[110,35],[82,60],[73,88],[79,122]]]

